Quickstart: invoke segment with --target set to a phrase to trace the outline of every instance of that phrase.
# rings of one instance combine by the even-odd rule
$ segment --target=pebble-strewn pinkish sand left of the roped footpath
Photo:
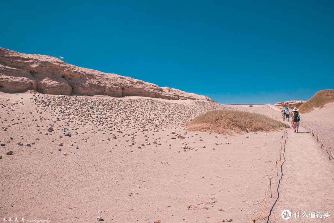
[[[0,93],[0,103],[0,217],[13,222],[99,222],[98,216],[105,222],[251,222],[261,212],[284,135],[224,136],[184,127],[213,109],[281,120],[279,109],[267,105],[34,93]],[[304,135],[303,142],[314,141]],[[272,198],[257,222],[268,219],[280,178],[275,173]]]

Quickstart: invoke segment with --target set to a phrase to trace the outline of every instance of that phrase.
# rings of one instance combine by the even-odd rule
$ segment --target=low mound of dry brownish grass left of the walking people
[[[208,131],[220,134],[272,131],[284,128],[284,123],[265,115],[243,111],[214,110],[194,118],[187,124],[189,131]]]

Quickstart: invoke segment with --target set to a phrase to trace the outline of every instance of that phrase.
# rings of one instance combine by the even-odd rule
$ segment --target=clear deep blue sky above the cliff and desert
[[[334,1],[2,1],[0,47],[219,103],[334,89]]]

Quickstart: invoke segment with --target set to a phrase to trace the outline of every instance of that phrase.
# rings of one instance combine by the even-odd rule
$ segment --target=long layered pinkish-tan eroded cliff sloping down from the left
[[[170,87],[77,67],[38,54],[23,54],[0,47],[0,91],[19,93],[34,90],[57,95],[144,96],[162,99],[212,99]]]

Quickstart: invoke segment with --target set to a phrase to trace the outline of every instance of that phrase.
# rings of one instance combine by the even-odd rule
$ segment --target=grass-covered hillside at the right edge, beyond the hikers
[[[310,100],[298,107],[300,113],[308,113],[314,108],[322,108],[325,104],[334,102],[334,90],[318,91]]]

